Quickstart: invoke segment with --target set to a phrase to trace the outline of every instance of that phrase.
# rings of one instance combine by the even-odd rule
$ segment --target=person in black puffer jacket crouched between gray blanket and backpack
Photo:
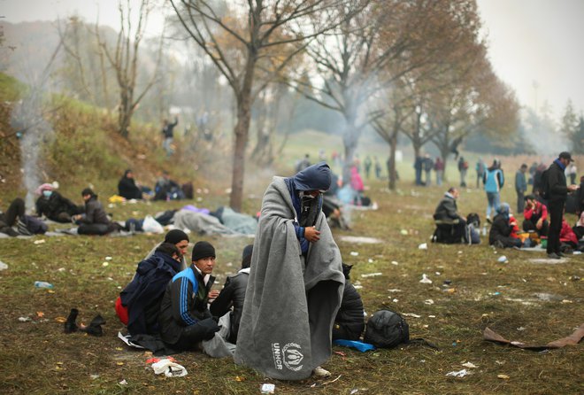
[[[345,276],[345,288],[342,291],[342,302],[339,312],[334,318],[333,340],[359,340],[365,329],[365,311],[363,300],[357,289],[350,283],[352,265],[342,264],[342,274]]]

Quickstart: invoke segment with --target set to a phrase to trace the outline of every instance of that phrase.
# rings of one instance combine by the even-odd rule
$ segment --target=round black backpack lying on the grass
[[[400,314],[380,310],[367,321],[364,341],[378,348],[394,348],[410,342],[410,326]]]

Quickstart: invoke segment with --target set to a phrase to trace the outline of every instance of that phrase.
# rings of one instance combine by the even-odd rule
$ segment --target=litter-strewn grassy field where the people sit
[[[507,174],[514,173],[513,166],[510,163]],[[410,177],[410,165],[403,164],[400,173],[403,179]],[[271,174],[260,175],[246,194],[248,213],[259,208]],[[451,179],[455,175],[450,173]],[[129,350],[117,338],[122,325],[113,303],[136,263],[160,236],[0,239],[0,260],[8,265],[0,272],[0,392],[252,394],[259,392],[262,383],[275,383],[276,393],[286,394],[584,391],[581,345],[531,352],[487,343],[481,334],[488,326],[510,340],[535,344],[570,335],[584,322],[582,282],[573,280],[584,275],[581,256],[545,264],[532,260],[544,258],[542,252],[495,251],[486,240],[475,246],[430,244],[431,215],[442,188],[415,188],[411,182],[401,182],[400,190],[389,192],[385,182],[366,183],[367,194],[379,210],[353,211],[351,230],[334,231],[343,260],[354,265],[352,281],[363,287],[360,292],[368,314],[390,308],[419,315],[406,317],[411,337],[424,337],[439,350],[414,345],[361,353],[334,347],[324,366],[333,376],[302,382],[274,381],[232,360],[212,360],[191,352],[175,355],[188,376],[155,376],[145,362],[148,353]],[[199,206],[227,204],[227,195],[197,197],[201,197],[195,202]],[[509,186],[503,190],[503,201],[514,201]],[[474,189],[463,190],[458,204],[462,213],[478,212],[481,217],[485,205],[484,192]],[[110,211],[114,219],[124,219],[179,206],[117,205]],[[382,243],[351,244],[343,242],[342,236],[376,237]],[[218,250],[220,286],[226,275],[236,271],[242,248],[250,239],[203,238]],[[192,236],[191,242],[198,239]],[[428,243],[427,250],[418,249],[422,243]],[[502,254],[507,263],[497,261]],[[382,275],[362,276],[374,272]],[[422,274],[434,283],[419,283]],[[53,283],[54,289],[35,289],[36,280]],[[450,286],[443,286],[445,280],[450,280]],[[63,333],[61,320],[72,307],[80,310],[78,321],[86,323],[102,314],[107,321],[104,337]],[[19,317],[32,321],[22,322]],[[463,369],[468,361],[478,367],[468,369],[471,375],[446,376]]]

